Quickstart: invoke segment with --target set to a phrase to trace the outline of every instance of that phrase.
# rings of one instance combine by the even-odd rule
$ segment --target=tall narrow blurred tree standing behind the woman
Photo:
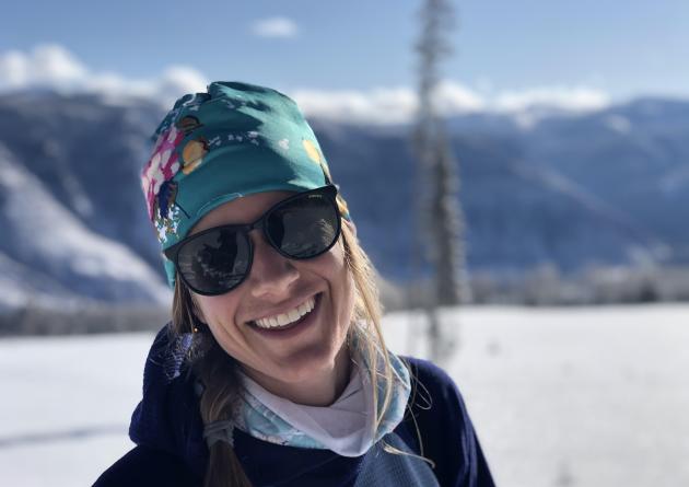
[[[452,53],[447,35],[454,26],[447,0],[424,0],[420,12],[419,109],[413,135],[417,155],[414,254],[430,268],[431,289],[424,308],[429,317],[431,355],[442,361],[458,345],[457,329],[443,326],[440,305],[457,305],[466,298],[464,217],[459,205],[457,161],[437,107],[440,61]]]

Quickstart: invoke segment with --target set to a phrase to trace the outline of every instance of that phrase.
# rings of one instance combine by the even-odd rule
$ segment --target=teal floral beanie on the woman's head
[[[160,124],[141,173],[149,218],[163,250],[213,208],[270,190],[331,184],[316,137],[296,104],[264,86],[217,81],[186,94]],[[342,217],[350,219],[338,195]],[[167,281],[174,264],[165,257]]]

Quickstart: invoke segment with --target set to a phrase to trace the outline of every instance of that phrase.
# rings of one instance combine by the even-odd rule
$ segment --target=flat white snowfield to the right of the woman
[[[446,368],[498,485],[689,485],[687,316],[687,305],[446,316],[460,327]],[[396,349],[419,344],[414,333],[392,335]]]

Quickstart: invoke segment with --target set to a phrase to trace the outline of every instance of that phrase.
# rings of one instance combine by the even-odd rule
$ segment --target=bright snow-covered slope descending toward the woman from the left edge
[[[124,244],[87,229],[0,143],[0,308],[85,297],[162,303],[168,291]],[[17,303],[20,301],[20,303]]]

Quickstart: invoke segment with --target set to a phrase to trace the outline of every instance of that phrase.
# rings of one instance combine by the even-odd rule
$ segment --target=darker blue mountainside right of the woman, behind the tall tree
[[[504,128],[507,121],[494,125]],[[393,279],[409,277],[418,188],[406,132],[314,126],[374,262]],[[664,259],[673,244],[681,248],[689,243],[666,243],[605,195],[563,176],[553,164],[534,163],[530,137],[516,128],[453,135],[470,269],[500,274],[547,263],[563,271],[630,265]],[[678,221],[679,214],[676,209],[668,218]]]

